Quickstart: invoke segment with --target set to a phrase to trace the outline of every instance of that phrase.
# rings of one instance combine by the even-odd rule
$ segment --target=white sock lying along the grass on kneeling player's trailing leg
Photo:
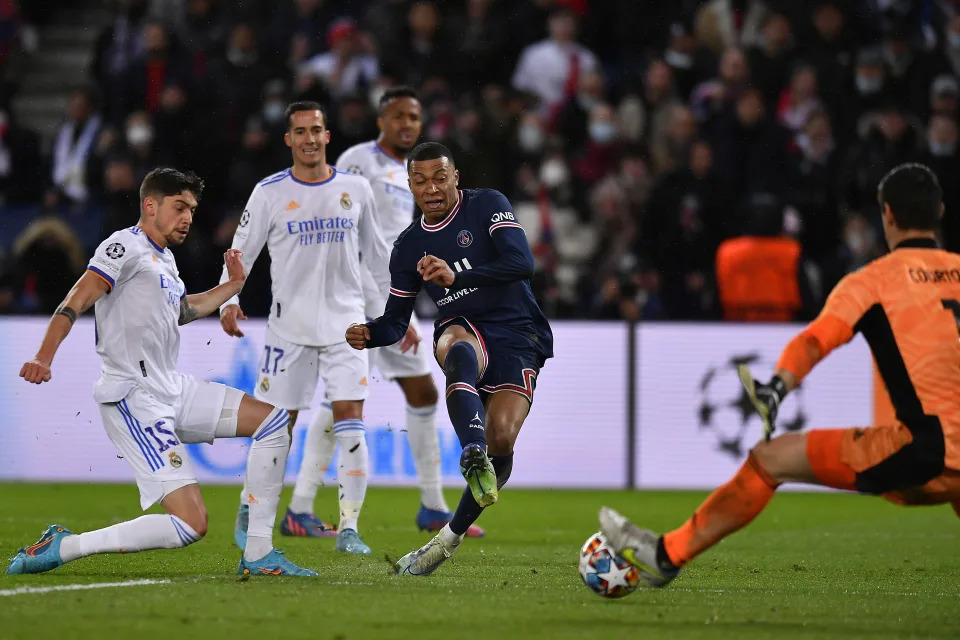
[[[60,542],[60,558],[70,562],[95,553],[177,549],[199,539],[200,535],[177,516],[151,513],[96,531],[67,536]]]

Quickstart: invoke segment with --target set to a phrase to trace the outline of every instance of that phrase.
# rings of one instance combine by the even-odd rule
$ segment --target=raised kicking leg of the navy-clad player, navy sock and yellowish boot
[[[487,457],[485,412],[477,393],[479,364],[473,344],[456,342],[444,360],[447,411],[460,439],[460,473],[474,499],[483,507],[497,501],[497,477]]]

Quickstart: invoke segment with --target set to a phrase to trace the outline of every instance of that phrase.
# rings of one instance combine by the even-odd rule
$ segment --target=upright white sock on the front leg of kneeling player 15
[[[289,426],[290,414],[285,409],[274,409],[253,434],[247,457],[250,524],[243,550],[245,560],[259,560],[273,549],[273,523],[290,450]]]

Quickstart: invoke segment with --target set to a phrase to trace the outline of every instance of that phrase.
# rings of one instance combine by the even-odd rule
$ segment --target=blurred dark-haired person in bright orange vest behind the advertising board
[[[758,195],[747,214],[749,235],[717,249],[717,290],[723,317],[740,322],[785,322],[803,309],[800,243],[783,235],[776,197]]]

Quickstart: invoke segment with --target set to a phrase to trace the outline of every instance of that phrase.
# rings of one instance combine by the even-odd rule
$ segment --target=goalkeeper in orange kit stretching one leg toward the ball
[[[603,533],[650,585],[665,586],[696,556],[748,524],[785,482],[901,505],[950,503],[960,515],[960,255],[937,247],[943,192],[930,169],[900,165],[877,191],[890,253],[840,281],[816,320],[787,344],[768,383],[741,371],[767,437],[737,474],[662,536],[601,509]],[[870,345],[896,420],[771,440],[784,396],[856,333]]]

